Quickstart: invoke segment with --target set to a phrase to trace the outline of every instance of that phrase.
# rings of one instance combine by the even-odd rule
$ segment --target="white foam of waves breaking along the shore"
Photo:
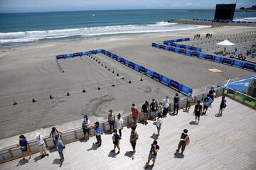
[[[42,39],[67,38],[75,35],[113,35],[128,33],[159,33],[174,30],[190,30],[208,26],[193,26],[177,23],[158,22],[154,24],[99,26],[90,28],[71,28],[62,30],[33,30],[15,33],[0,33],[0,44],[10,42],[29,42]]]

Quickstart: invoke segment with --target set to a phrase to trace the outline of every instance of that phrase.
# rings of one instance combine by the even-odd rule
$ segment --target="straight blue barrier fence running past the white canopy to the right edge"
[[[160,45],[156,44],[156,43],[152,43],[152,47],[156,47],[156,48],[160,48]],[[164,46],[164,45],[162,45]],[[196,56],[200,59],[205,59],[205,60],[210,60],[213,62],[220,62],[223,64],[228,64],[231,66],[235,66],[235,67],[239,67],[241,69],[248,69],[252,72],[256,72],[256,65],[255,64],[251,64],[251,63],[247,63],[247,62],[241,62],[238,60],[233,60],[233,59],[228,59],[225,57],[219,57],[219,56],[215,56],[215,55],[207,55],[204,54],[202,52],[193,52],[193,51],[189,51],[189,50],[182,50],[176,47],[168,47],[168,46],[164,46],[162,47],[165,50],[169,50],[172,52],[177,52],[177,53],[181,53],[183,55],[188,55],[188,56]]]

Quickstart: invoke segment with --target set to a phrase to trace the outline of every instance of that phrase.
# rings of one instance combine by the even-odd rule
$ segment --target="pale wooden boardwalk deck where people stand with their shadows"
[[[168,115],[159,137],[159,154],[155,166],[149,169],[256,169],[256,111],[227,99],[223,117],[214,116],[218,112],[220,98],[216,98],[208,115],[201,117],[200,125],[191,125],[193,112]],[[184,128],[188,129],[191,143],[186,147],[184,157],[175,158],[174,152]],[[139,140],[134,160],[129,151],[130,129],[124,128],[120,142],[121,153],[112,154],[112,135],[102,135],[102,147],[94,147],[95,137],[88,142],[73,142],[64,150],[65,162],[59,168],[58,152],[50,151],[50,156],[40,159],[34,154],[30,162],[21,159],[0,164],[0,169],[143,169],[147,160],[156,127],[137,127]]]

